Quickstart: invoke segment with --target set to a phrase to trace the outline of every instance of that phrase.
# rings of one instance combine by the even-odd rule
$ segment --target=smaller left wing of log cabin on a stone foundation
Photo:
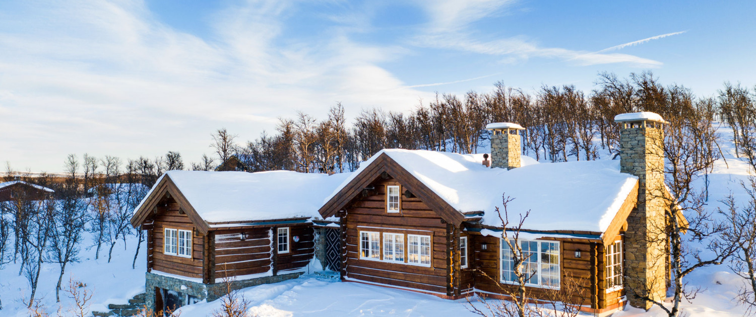
[[[145,303],[154,311],[294,279],[314,263],[323,199],[349,174],[168,171],[135,208],[146,231]]]

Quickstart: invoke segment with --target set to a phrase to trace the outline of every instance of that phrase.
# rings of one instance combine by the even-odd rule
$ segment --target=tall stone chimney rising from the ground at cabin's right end
[[[649,309],[661,302],[666,287],[664,130],[667,122],[653,112],[615,116],[620,126],[620,170],[639,179],[637,208],[627,217],[624,233],[624,281],[631,306]]]

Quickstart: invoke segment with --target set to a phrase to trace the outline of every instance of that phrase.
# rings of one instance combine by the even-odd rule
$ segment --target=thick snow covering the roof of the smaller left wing
[[[160,180],[169,177],[203,220],[217,223],[320,218],[318,208],[323,198],[349,175],[294,171],[168,171]],[[153,190],[155,187],[150,193]],[[136,210],[139,208],[141,204]]]

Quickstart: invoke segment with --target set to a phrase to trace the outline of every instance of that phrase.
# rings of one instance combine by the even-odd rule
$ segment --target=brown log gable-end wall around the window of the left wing
[[[192,232],[191,258],[163,254],[163,235],[166,227]],[[175,202],[158,207],[158,213],[153,218],[152,246],[149,247],[149,241],[147,245],[147,257],[148,261],[151,259],[151,269],[191,278],[203,277],[203,236],[197,235],[194,224],[186,214],[179,213],[178,204]]]

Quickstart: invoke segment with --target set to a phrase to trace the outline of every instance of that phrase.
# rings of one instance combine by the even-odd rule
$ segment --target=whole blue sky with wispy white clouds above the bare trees
[[[756,85],[756,2],[3,1],[0,162],[69,153],[197,161],[302,110],[407,111],[494,82],[594,88],[652,70],[716,94]]]

